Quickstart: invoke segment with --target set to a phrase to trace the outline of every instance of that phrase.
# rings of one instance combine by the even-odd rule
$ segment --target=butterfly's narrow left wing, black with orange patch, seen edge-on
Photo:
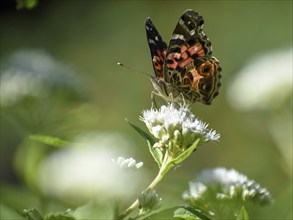
[[[150,18],[146,19],[145,29],[151,52],[155,76],[157,79],[162,79],[167,44],[163,41],[161,35],[157,31],[156,27],[154,26]]]

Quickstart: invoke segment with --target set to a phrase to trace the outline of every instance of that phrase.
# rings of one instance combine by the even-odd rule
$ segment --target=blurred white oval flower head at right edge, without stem
[[[252,59],[228,88],[228,100],[238,109],[273,109],[292,96],[292,48]]]

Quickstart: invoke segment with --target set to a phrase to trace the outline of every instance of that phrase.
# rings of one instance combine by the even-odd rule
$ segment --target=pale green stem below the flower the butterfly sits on
[[[162,166],[159,170],[156,178],[151,182],[151,184],[146,188],[145,191],[152,191],[156,185],[163,179],[166,173],[174,167],[174,164],[170,163],[173,158],[171,158],[166,152]],[[134,209],[139,206],[139,201],[136,199],[121,215],[118,216],[118,219],[123,219],[128,216]]]

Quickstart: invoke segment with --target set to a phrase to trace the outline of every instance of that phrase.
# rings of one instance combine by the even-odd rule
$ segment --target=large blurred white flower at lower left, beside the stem
[[[135,193],[142,180],[142,169],[121,169],[112,158],[127,154],[133,146],[116,133],[89,133],[51,154],[39,168],[39,187],[45,195],[65,201],[91,198],[119,198]],[[86,145],[84,145],[86,144]]]

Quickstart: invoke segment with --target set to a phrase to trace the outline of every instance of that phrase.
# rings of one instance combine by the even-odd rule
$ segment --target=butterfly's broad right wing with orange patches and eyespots
[[[204,19],[189,9],[180,17],[164,62],[164,79],[191,102],[210,104],[218,94],[220,66],[203,33]]]

